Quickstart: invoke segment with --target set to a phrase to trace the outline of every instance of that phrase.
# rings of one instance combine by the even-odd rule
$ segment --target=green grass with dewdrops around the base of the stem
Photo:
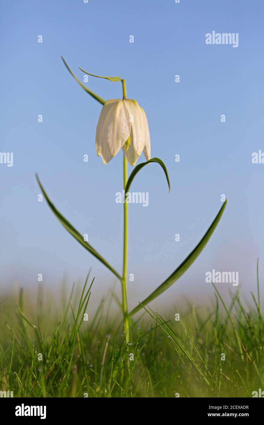
[[[14,397],[252,397],[264,390],[259,285],[250,311],[238,291],[226,306],[221,286],[214,290],[210,306],[179,302],[166,317],[146,307],[131,319],[129,344],[117,295],[89,314],[89,276],[59,301],[43,286],[36,297],[14,291],[0,299],[0,389]]]

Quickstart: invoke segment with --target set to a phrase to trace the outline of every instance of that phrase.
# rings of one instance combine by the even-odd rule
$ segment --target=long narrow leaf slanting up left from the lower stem
[[[82,235],[69,223],[69,221],[66,220],[66,218],[63,217],[63,215],[61,215],[60,212],[58,212],[58,210],[56,210],[56,208],[54,207],[54,205],[52,204],[52,202],[50,201],[47,193],[45,192],[38,175],[36,174],[36,179],[39,183],[39,187],[41,188],[43,195],[49,205],[49,207],[51,208],[51,210],[54,212],[54,214],[56,215],[56,217],[58,218],[58,220],[61,222],[61,224],[65,227],[66,230],[68,230],[68,232],[82,245],[84,246],[85,249],[87,249],[89,252],[91,252],[92,255],[94,255],[94,257],[97,258],[97,260],[101,261],[101,263],[103,263],[109,270],[111,270],[112,273],[114,273],[114,275],[117,276],[117,278],[119,280],[122,280],[121,276],[119,276],[119,274],[116,272],[115,269],[113,269],[113,267],[90,245],[88,244],[88,242],[85,242],[83,240]]]

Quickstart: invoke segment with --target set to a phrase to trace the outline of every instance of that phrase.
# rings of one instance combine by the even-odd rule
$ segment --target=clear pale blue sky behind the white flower
[[[147,208],[129,206],[131,303],[149,295],[200,241],[222,205],[221,194],[228,205],[214,235],[162,300],[211,294],[205,273],[212,269],[238,271],[245,293],[254,290],[258,257],[264,278],[264,164],[251,161],[253,152],[264,151],[264,4],[15,0],[1,2],[0,9],[0,151],[14,153],[13,167],[0,164],[1,286],[37,286],[38,273],[47,285],[63,276],[71,282],[90,266],[100,295],[114,280],[45,201],[38,202],[36,172],[58,210],[122,269],[123,210],[115,203],[122,154],[107,165],[97,157],[101,105],[70,76],[63,55],[80,79],[79,66],[126,79],[128,98],[146,111],[152,156],[170,175],[170,194],[156,164],[145,167],[131,188],[149,193]],[[239,33],[238,48],[206,45],[212,31]],[[89,77],[87,87],[104,99],[122,96],[118,82]],[[222,284],[221,290],[228,288]]]

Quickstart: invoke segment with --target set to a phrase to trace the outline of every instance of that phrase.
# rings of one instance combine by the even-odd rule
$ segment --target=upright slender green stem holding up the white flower
[[[125,79],[122,79],[123,99],[126,99]],[[128,181],[128,162],[123,158],[124,170],[124,190]],[[128,274],[128,203],[124,203],[124,256],[123,256],[123,277],[122,277],[122,306],[124,314],[125,339],[128,343],[130,340],[130,326],[128,317],[128,301],[127,301],[127,274]]]

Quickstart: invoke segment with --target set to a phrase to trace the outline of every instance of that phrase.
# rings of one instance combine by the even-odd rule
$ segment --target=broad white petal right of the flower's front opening
[[[142,110],[136,100],[125,99],[125,106],[129,112],[133,129],[134,149],[137,156],[142,154],[146,138],[146,121]]]

